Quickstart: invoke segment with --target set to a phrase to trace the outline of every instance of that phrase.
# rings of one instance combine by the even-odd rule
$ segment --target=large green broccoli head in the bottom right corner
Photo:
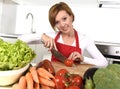
[[[95,89],[120,89],[120,64],[98,69],[93,76]]]

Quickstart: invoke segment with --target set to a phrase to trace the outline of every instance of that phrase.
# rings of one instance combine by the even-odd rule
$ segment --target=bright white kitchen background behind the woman
[[[59,1],[62,0],[0,0],[0,35],[7,36],[3,37],[7,41],[14,41],[20,34],[53,31],[48,21],[48,11]],[[118,3],[118,0],[114,0],[113,4],[116,2],[117,4],[107,7],[104,7],[100,0],[64,0],[64,2],[69,4],[75,14],[73,24],[76,30],[88,35],[96,43],[105,42],[119,46],[120,1]],[[34,62],[50,54],[42,44],[30,46],[37,53]]]

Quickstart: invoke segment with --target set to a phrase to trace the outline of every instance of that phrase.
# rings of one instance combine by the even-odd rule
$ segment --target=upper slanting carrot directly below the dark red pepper
[[[44,77],[44,78],[46,78],[46,79],[48,79],[48,80],[50,80],[51,78],[52,79],[54,79],[55,77],[50,73],[50,72],[48,72],[46,69],[44,69],[44,68],[38,68],[37,69],[37,72],[38,72],[38,74],[39,74],[39,76],[41,76],[41,77]]]

